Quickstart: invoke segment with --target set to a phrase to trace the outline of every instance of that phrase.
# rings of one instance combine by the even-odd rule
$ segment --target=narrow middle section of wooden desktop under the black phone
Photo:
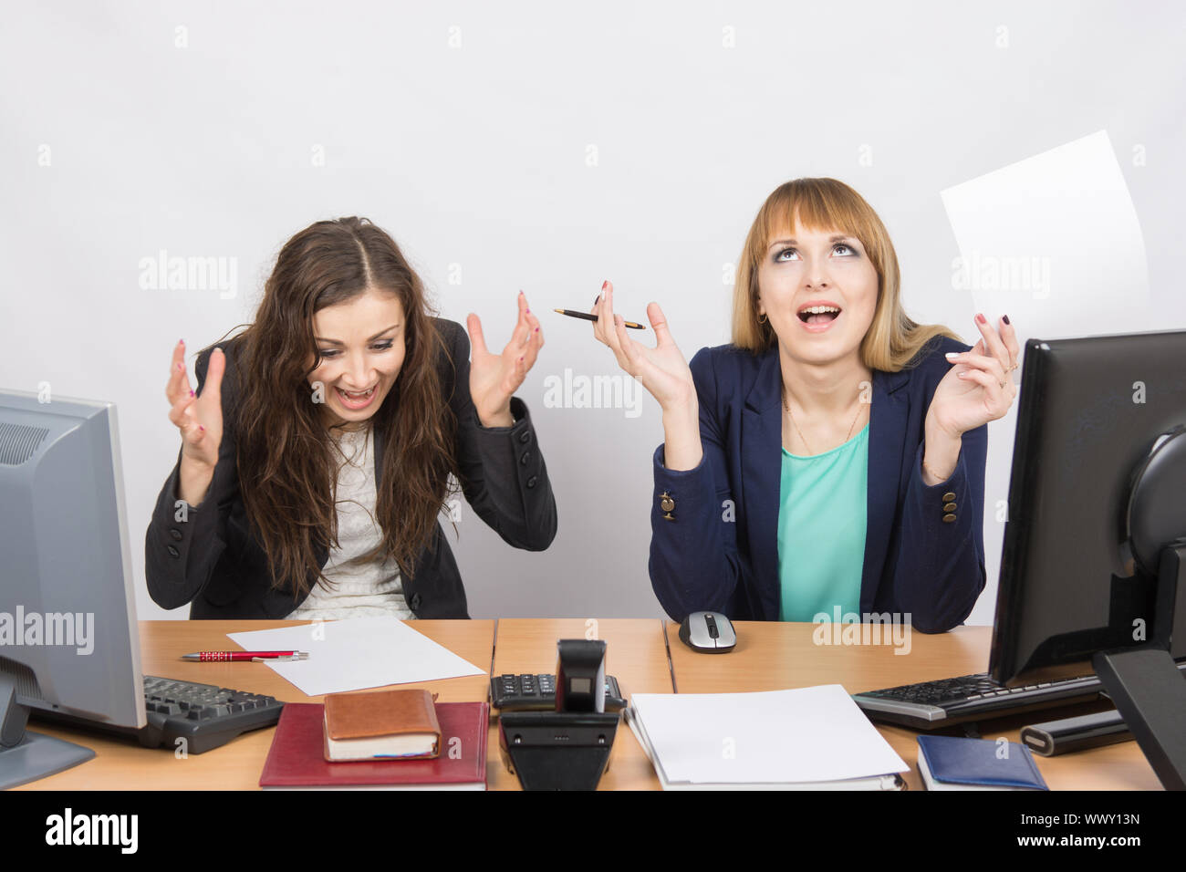
[[[629,700],[635,693],[671,693],[671,671],[658,619],[500,618],[495,642],[495,675],[556,671],[556,641],[600,638],[606,642],[605,671],[618,679]],[[506,771],[498,751],[498,721],[490,725],[486,777],[491,790],[518,790],[518,778]],[[642,745],[624,720],[610,753],[610,768],[599,790],[658,790]]]

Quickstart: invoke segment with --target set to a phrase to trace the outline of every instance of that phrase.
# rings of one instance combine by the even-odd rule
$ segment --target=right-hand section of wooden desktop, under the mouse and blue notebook
[[[894,654],[893,647],[886,644],[815,644],[814,624],[739,620],[734,628],[738,645],[731,653],[697,654],[680,642],[680,625],[668,623],[671,666],[680,693],[778,690],[814,685],[841,685],[849,693],[861,693],[971,675],[988,668],[993,636],[990,626],[958,626],[936,636],[912,632],[910,653]],[[1092,708],[1082,706],[1056,711],[1050,718],[1034,713],[993,721],[984,738],[1003,736],[1009,741],[1019,741],[1020,730],[1026,724],[1070,717]],[[910,772],[905,776],[910,789],[923,790],[917,764],[918,732],[886,725],[878,725],[878,730],[898,756],[910,764]],[[1051,790],[1161,789],[1135,741],[1058,757],[1034,755],[1034,759]]]

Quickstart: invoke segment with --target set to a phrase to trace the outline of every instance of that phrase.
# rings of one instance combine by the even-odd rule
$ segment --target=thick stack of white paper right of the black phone
[[[786,784],[908,769],[840,685],[636,693],[630,705],[672,783]]]

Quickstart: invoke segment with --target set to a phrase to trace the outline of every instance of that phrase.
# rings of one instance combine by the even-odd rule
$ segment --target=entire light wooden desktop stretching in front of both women
[[[200,681],[266,693],[286,702],[320,702],[306,696],[262,663],[187,663],[177,656],[187,651],[230,648],[225,634],[289,626],[307,622],[287,620],[142,620],[141,666],[148,675]],[[496,638],[497,623],[497,638]],[[416,620],[413,626],[480,669],[493,671],[553,673],[556,639],[585,638],[595,632],[608,643],[606,670],[621,682],[630,698],[635,693],[670,693],[671,670],[663,643],[663,623],[657,619],[601,619],[594,624],[579,618],[495,620]],[[914,632],[911,650],[894,654],[891,645],[816,645],[811,624],[738,622],[738,648],[726,655],[696,654],[678,639],[678,625],[667,624],[671,669],[680,693],[773,690],[788,687],[839,683],[849,693],[893,687],[983,671],[988,664],[990,628],[961,626],[939,636]],[[442,702],[477,702],[489,698],[489,676],[473,675],[431,681],[426,687]],[[1058,715],[1070,712],[1059,709]],[[1013,721],[994,721],[987,738],[1005,736],[1018,740],[1025,724],[1041,720],[1024,715]],[[167,749],[149,751],[122,739],[65,730],[39,721],[30,728],[88,747],[97,756],[79,766],[21,785],[27,789],[88,790],[230,790],[257,789],[260,771],[274,728],[257,730],[204,755],[177,758]],[[913,730],[879,726],[898,755],[911,765],[906,778],[912,790],[922,789]],[[1037,757],[1038,768],[1052,790],[1156,790],[1160,783],[1135,741],[1093,749],[1061,757]],[[487,785],[491,790],[518,789],[518,781],[503,766],[498,753],[497,723],[490,727],[486,752]],[[658,779],[646,756],[624,723],[618,727],[610,771],[601,779],[605,790],[658,789]],[[18,788],[19,789],[19,788]]]

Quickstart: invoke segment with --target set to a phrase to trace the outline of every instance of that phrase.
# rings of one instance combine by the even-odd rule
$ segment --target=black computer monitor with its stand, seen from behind
[[[1099,675],[1186,787],[1186,331],[1026,343],[989,657]]]

